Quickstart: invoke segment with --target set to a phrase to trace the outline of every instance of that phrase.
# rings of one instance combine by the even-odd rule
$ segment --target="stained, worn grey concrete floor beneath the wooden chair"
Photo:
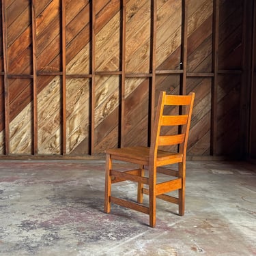
[[[148,216],[103,212],[104,161],[0,165],[0,255],[256,255],[256,167],[187,162],[186,214],[157,201]],[[113,188],[134,197],[130,182]]]

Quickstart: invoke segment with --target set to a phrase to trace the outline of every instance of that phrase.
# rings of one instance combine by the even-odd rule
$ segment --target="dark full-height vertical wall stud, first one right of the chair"
[[[217,103],[218,103],[218,26],[219,26],[219,0],[213,2],[213,28],[212,28],[212,107],[211,107],[211,142],[210,154],[216,154],[217,144]]]

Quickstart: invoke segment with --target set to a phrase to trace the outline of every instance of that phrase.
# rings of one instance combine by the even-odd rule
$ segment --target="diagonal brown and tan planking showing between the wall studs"
[[[116,0],[96,2],[96,69],[99,71],[119,70],[120,3]],[[188,72],[210,72],[212,1],[187,2],[189,18]],[[227,17],[230,18],[232,13],[233,15],[239,13],[238,2],[235,1],[229,8],[230,14]],[[16,12],[11,12],[17,3],[20,8],[15,9]],[[171,0],[158,1],[157,66],[161,70],[177,70],[180,68],[180,3],[180,1]],[[223,5],[225,3],[227,1],[222,1]],[[66,8],[67,72],[68,74],[88,74],[90,71],[88,1],[77,3],[76,1],[67,0]],[[149,1],[130,0],[127,1],[126,8],[126,72],[149,72]],[[31,49],[29,48],[31,45],[31,29],[27,22],[28,10],[29,5],[26,1],[23,1],[23,4],[19,1],[12,1],[8,6],[8,20],[10,26],[12,26],[8,27],[12,31],[8,34],[8,53],[10,53],[11,71],[14,74],[31,74]],[[38,68],[48,71],[61,71],[59,1],[38,1],[36,12],[38,16]],[[222,22],[223,27],[225,27],[226,21],[222,20]],[[14,33],[15,29],[13,28],[20,25],[19,23],[23,25],[23,29]],[[234,26],[233,29],[239,27],[239,21]],[[235,38],[238,37],[239,32],[234,36]],[[225,42],[223,39],[223,45],[228,45],[227,40]],[[225,59],[225,54],[222,58]],[[208,155],[210,148],[210,79],[191,78],[188,79],[189,81],[191,82],[187,85],[188,92],[196,91],[199,98],[196,100],[188,152],[195,155]],[[179,83],[178,76],[161,75],[157,78],[156,88],[157,91],[165,89],[178,94]],[[60,153],[60,86],[57,77],[38,76],[40,154]],[[148,86],[148,79],[126,79],[126,145],[133,145],[138,142],[147,143]],[[106,147],[117,146],[118,87],[118,76],[96,76],[96,153],[103,152]],[[30,93],[31,81],[10,79],[12,153],[31,153]],[[137,98],[139,95],[140,97]],[[223,99],[227,97],[228,94],[223,95]],[[238,98],[231,97],[231,99],[233,99],[232,105],[238,102]],[[219,100],[221,102],[222,97]],[[2,130],[1,137],[3,137],[2,104],[0,107],[2,108],[0,127]],[[221,119],[226,117],[221,110],[220,117]],[[23,122],[26,125],[23,125]],[[87,154],[89,152],[88,124],[89,79],[67,79],[68,154]],[[139,134],[137,141],[134,139],[134,134]],[[225,134],[225,130],[221,134]],[[237,136],[235,134],[233,139],[236,139]],[[20,139],[21,137],[23,139]],[[30,143],[26,144],[23,141],[30,141]],[[3,152],[3,143],[1,148]]]

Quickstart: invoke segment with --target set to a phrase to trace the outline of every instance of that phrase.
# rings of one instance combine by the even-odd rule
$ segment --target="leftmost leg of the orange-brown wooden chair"
[[[109,213],[111,210],[111,168],[112,168],[112,159],[109,154],[106,154],[106,164],[105,164],[105,202],[104,202],[104,212]]]

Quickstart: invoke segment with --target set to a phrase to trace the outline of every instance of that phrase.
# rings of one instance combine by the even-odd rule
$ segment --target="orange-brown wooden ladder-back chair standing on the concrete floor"
[[[194,99],[195,93],[191,93],[188,96],[173,96],[161,91],[150,147],[122,147],[106,150],[104,212],[110,212],[111,203],[122,205],[126,208],[149,214],[150,226],[155,227],[156,198],[159,198],[179,205],[179,214],[180,216],[184,215],[186,147]],[[169,108],[171,114],[165,113],[167,112],[166,108]],[[182,114],[179,114],[181,112],[179,110],[177,115],[173,115],[173,111],[170,111],[170,108],[182,109]],[[168,130],[175,130],[175,134],[167,134],[167,126],[169,126]],[[173,126],[176,126],[175,129]],[[165,130],[164,134],[162,134],[162,130]],[[166,150],[166,147],[164,147],[173,148],[173,145],[177,145],[174,146],[177,149],[175,152],[170,152],[169,149]],[[113,160],[137,164],[138,168],[117,171],[112,169]],[[177,163],[177,171],[166,167],[174,163]],[[147,175],[145,175],[146,169],[148,169]],[[172,179],[169,178],[168,181],[157,182],[157,172],[171,175]],[[125,180],[138,183],[137,203],[111,195],[111,184]],[[147,186],[144,187],[144,184]],[[166,195],[166,193],[173,190],[178,191],[177,195]],[[148,206],[143,205],[143,194],[149,195]]]

